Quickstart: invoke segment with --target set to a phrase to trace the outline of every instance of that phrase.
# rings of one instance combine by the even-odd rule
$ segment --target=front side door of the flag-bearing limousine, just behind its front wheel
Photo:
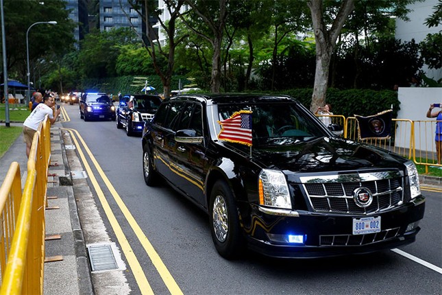
[[[186,103],[175,126],[177,130],[192,130],[195,137],[204,137],[202,106],[197,102]],[[175,141],[175,138],[173,139]],[[206,175],[206,141],[201,143],[174,143],[169,150],[172,169],[178,176],[176,185],[187,196],[205,206],[204,180]]]

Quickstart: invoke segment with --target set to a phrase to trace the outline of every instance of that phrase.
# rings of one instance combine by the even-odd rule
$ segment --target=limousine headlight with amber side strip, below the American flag
[[[258,185],[260,204],[283,209],[292,208],[286,178],[282,172],[262,169]]]

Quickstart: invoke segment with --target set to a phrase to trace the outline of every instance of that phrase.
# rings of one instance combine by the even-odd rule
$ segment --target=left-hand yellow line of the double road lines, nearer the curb
[[[134,274],[136,283],[138,284],[138,287],[140,288],[141,294],[154,294],[154,290],[152,290],[151,286],[149,285],[149,282],[147,281],[147,278],[145,276],[145,273],[143,271],[143,268],[141,268],[140,263],[138,262],[138,259],[136,259],[136,256],[134,254],[134,251],[132,250],[132,247],[129,244],[129,241],[127,241],[127,238],[125,237],[125,234],[123,233],[123,230],[121,229],[121,226],[116,220],[116,217],[114,213],[112,212],[112,209],[110,208],[110,205],[108,201],[106,200],[106,197],[104,196],[103,191],[101,190],[97,178],[95,178],[95,175],[92,172],[92,169],[90,169],[90,166],[88,162],[86,161],[86,156],[84,156],[84,153],[81,148],[79,148],[79,144],[77,139],[75,138],[73,132],[77,133],[77,136],[79,137],[80,141],[84,144],[83,139],[79,136],[77,130],[69,129],[69,128],[62,128],[64,130],[68,130],[71,133],[71,137],[73,141],[75,142],[75,145],[77,145],[77,151],[79,153],[80,158],[82,158],[82,162],[84,164],[84,167],[86,168],[86,171],[88,172],[88,176],[90,178],[90,181],[92,182],[95,191],[97,192],[97,196],[101,202],[101,206],[103,207],[104,212],[106,213],[106,216],[108,216],[108,220],[110,222],[110,225],[112,226],[112,229],[114,230],[114,233],[116,235],[116,239],[118,239],[121,248],[124,252],[124,255],[127,259],[127,263],[129,263],[130,268],[132,269],[132,272]],[[87,149],[86,145],[84,145],[84,148]]]

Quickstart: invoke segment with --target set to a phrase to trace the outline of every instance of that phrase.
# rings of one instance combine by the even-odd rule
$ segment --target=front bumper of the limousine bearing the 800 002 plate
[[[244,225],[244,229],[249,248],[271,257],[314,258],[363,254],[413,243],[420,231],[417,224],[423,218],[424,211],[425,198],[419,196],[400,207],[369,215],[381,217],[380,233],[352,235],[353,218],[367,215],[308,211],[273,215],[254,208],[251,223]],[[302,235],[304,243],[282,241],[287,235]]]

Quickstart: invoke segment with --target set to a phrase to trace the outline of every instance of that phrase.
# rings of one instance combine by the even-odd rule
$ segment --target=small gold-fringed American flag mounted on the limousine
[[[220,140],[251,146],[251,110],[240,110],[218,123],[221,125]]]

